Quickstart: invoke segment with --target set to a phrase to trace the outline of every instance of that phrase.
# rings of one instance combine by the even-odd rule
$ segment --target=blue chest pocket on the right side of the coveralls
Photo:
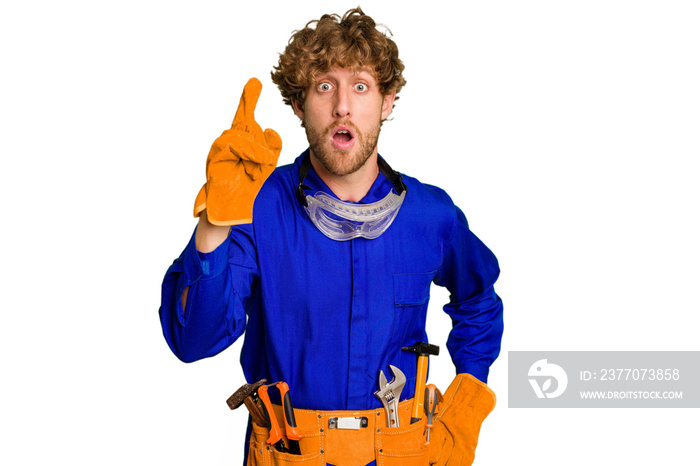
[[[394,347],[422,341],[435,272],[394,275]],[[415,359],[415,356],[414,356]]]

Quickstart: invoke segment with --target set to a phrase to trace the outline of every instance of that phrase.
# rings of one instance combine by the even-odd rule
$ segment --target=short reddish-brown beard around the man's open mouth
[[[329,144],[330,134],[336,126],[349,126],[355,131],[357,141],[350,150],[340,150]],[[367,133],[360,130],[350,121],[339,121],[321,130],[312,128],[303,122],[309,147],[316,159],[329,173],[336,176],[345,176],[355,173],[362,168],[372,156],[379,141],[381,120]]]

